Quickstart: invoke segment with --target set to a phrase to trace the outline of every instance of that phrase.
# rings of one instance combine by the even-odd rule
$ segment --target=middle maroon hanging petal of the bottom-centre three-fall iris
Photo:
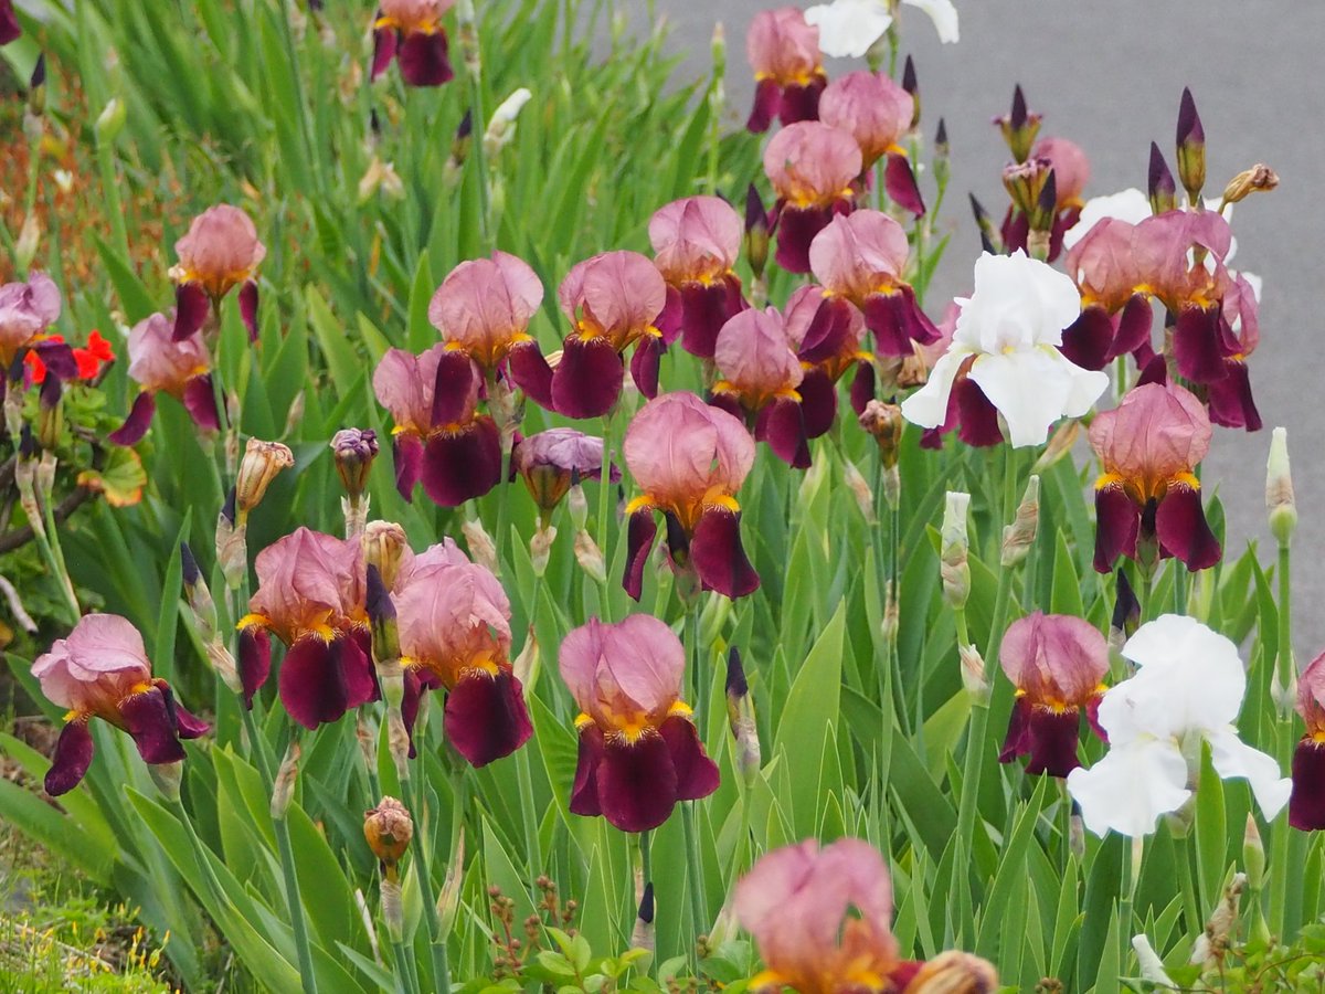
[[[676,807],[672,750],[652,729],[635,742],[604,741],[595,779],[603,816],[623,832],[657,828]]]

